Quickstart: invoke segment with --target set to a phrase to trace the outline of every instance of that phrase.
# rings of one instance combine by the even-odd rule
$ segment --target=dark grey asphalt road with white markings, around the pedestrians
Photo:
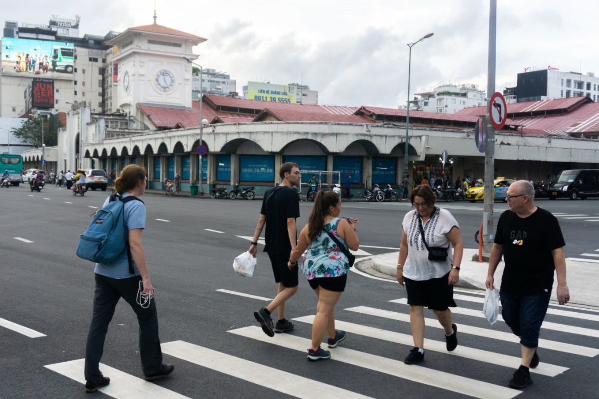
[[[89,398],[81,383],[83,368],[76,361],[84,357],[93,264],[77,258],[75,248],[90,214],[106,196],[90,191],[74,197],[54,187],[41,193],[23,186],[0,189],[0,398]],[[490,326],[479,313],[454,312],[461,331],[455,356],[444,351],[442,331],[432,322],[426,328],[425,336],[431,341],[425,344],[425,362],[404,366],[403,358],[411,349],[410,325],[405,321],[408,309],[390,301],[401,302],[405,291],[395,282],[357,272],[350,273],[336,308],[337,327],[347,331],[347,339],[331,350],[332,360],[308,362],[308,322],[315,313],[316,297],[301,278],[286,313],[288,318],[302,319],[294,321],[292,334],[277,334],[273,339],[259,330],[252,315],[267,301],[216,291],[268,298],[275,293],[266,254],[259,254],[253,278],[232,270],[233,258],[249,247],[249,240],[237,236],[253,233],[258,200],[152,194],[142,199],[147,205],[143,242],[156,288],[164,360],[175,364],[176,370],[171,378],[156,383],[139,380],[137,321],[131,308],[119,303],[102,358],[112,383],[95,397],[509,398],[519,394],[507,389],[519,364],[519,345],[509,341],[509,328],[501,319]],[[568,257],[592,254],[599,248],[595,226],[599,222],[592,221],[599,219],[599,200],[544,200],[538,205],[561,214]],[[474,248],[482,203],[440,206],[450,209],[465,245]],[[311,203],[301,203],[298,226],[307,220],[310,207]],[[495,220],[504,208],[504,203],[495,204]],[[407,203],[344,203],[342,215],[361,221],[358,232],[364,252],[359,255],[397,248],[401,220],[409,209]],[[457,300],[458,309],[468,313],[482,308],[476,302],[479,293],[459,294],[464,297]],[[541,330],[541,338],[548,340],[539,349],[541,365],[533,374],[534,384],[519,398],[596,397],[599,309],[570,311],[547,315],[546,322],[557,325]],[[426,317],[434,315],[426,312]],[[45,336],[28,337],[7,328],[8,322]]]

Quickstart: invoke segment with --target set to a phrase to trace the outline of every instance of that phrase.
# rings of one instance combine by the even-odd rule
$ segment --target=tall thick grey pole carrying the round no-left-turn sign
[[[489,4],[489,60],[487,72],[487,104],[495,93],[495,44],[497,33],[497,0]],[[495,187],[495,127],[491,123],[489,106],[486,109],[486,143],[485,143],[485,201],[483,205],[483,253],[491,254],[493,246],[493,200]]]

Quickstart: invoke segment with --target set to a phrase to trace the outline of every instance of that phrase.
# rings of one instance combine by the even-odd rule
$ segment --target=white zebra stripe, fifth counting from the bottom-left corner
[[[452,308],[452,311],[455,308]],[[349,310],[350,312],[362,313],[365,315],[382,317],[391,320],[410,322],[410,315],[406,313],[400,312],[392,312],[391,310],[385,309],[377,309],[376,307],[369,306],[356,306],[356,307],[347,307],[344,310]],[[441,328],[443,326],[439,324],[437,319],[424,318],[424,324],[426,327],[431,328]],[[461,334],[471,334],[485,338],[496,339],[500,341],[520,343],[519,337],[516,337],[512,333],[506,333],[504,331],[491,330],[490,328],[482,328],[476,327],[473,325],[467,324],[459,324],[459,332]],[[550,349],[552,351],[565,352],[574,355],[580,355],[585,357],[595,357],[599,355],[598,348],[590,348],[588,346],[574,345],[571,343],[552,341],[548,339],[539,338],[539,348]]]

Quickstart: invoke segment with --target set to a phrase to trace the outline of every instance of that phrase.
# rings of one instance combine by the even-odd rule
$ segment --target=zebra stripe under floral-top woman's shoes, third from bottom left
[[[242,337],[255,339],[261,342],[283,346],[283,348],[294,349],[305,354],[306,349],[310,348],[309,339],[294,336],[291,334],[276,334],[274,337],[268,337],[260,327],[243,327],[235,330],[229,330],[228,333],[237,334]],[[283,337],[282,335],[285,335]],[[378,371],[379,373],[389,374],[413,382],[419,382],[429,386],[446,389],[447,391],[458,392],[459,394],[470,395],[481,399],[511,399],[521,394],[516,389],[506,388],[504,386],[492,383],[462,377],[456,374],[446,373],[444,371],[434,370],[427,367],[414,367],[404,364],[403,361],[394,360],[359,352],[347,348],[335,348],[331,357],[335,361],[353,364],[368,370]],[[288,391],[292,392],[292,391]]]

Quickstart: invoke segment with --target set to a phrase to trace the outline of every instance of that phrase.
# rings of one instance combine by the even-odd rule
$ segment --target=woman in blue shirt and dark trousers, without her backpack
[[[146,184],[146,169],[138,165],[128,165],[114,182],[114,190],[123,199],[128,196],[135,196],[138,199],[146,191]],[[106,206],[110,199],[108,197],[103,206]],[[113,199],[120,200],[115,197]],[[129,248],[125,249],[117,260],[110,264],[96,263],[94,269],[96,288],[93,297],[92,323],[87,334],[85,350],[86,392],[96,391],[110,383],[110,378],[104,377],[100,371],[99,363],[104,352],[108,324],[121,298],[132,307],[140,325],[139,351],[144,379],[161,379],[174,370],[172,364],[162,364],[158,313],[156,313],[156,301],[153,300],[154,288],[141,243],[141,232],[146,227],[146,205],[141,200],[129,200],[123,205],[123,218]],[[146,296],[149,302],[141,300],[143,296]]]

